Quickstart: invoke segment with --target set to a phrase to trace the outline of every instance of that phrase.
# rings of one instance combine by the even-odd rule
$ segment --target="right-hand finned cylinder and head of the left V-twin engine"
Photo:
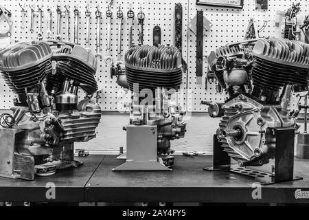
[[[95,80],[97,60],[89,50],[79,45],[64,45],[54,52],[52,61],[57,62],[57,72],[75,80],[87,94],[93,94],[98,90]]]

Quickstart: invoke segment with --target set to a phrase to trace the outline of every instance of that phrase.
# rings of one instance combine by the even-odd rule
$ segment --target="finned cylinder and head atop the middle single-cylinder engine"
[[[183,80],[181,53],[174,46],[142,45],[130,48],[125,54],[128,87],[141,89],[157,87],[179,88]]]

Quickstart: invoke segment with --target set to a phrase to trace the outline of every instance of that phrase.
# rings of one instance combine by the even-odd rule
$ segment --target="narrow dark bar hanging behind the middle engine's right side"
[[[175,5],[175,29],[174,29],[174,45],[183,52],[183,5],[176,3]],[[181,56],[181,63],[183,63],[183,72],[187,72],[187,63]]]

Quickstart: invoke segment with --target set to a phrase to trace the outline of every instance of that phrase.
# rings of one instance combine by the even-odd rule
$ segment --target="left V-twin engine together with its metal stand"
[[[1,176],[32,180],[82,164],[73,143],[94,138],[101,118],[91,100],[96,68],[93,54],[74,44],[33,41],[0,50],[1,74],[16,94],[13,115],[1,117]],[[80,88],[86,96],[78,101]]]

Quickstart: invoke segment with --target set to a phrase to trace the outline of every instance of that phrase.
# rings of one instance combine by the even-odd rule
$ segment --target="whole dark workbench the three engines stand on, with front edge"
[[[309,203],[309,198],[295,199],[295,190],[309,191],[306,159],[295,159],[295,175],[304,179],[262,186],[262,199],[253,199],[251,177],[203,170],[212,165],[211,156],[176,155],[174,170],[165,172],[113,172],[124,162],[116,155],[77,159],[84,165],[35,181],[0,177],[0,201]],[[55,199],[45,196],[47,183],[55,184]]]

